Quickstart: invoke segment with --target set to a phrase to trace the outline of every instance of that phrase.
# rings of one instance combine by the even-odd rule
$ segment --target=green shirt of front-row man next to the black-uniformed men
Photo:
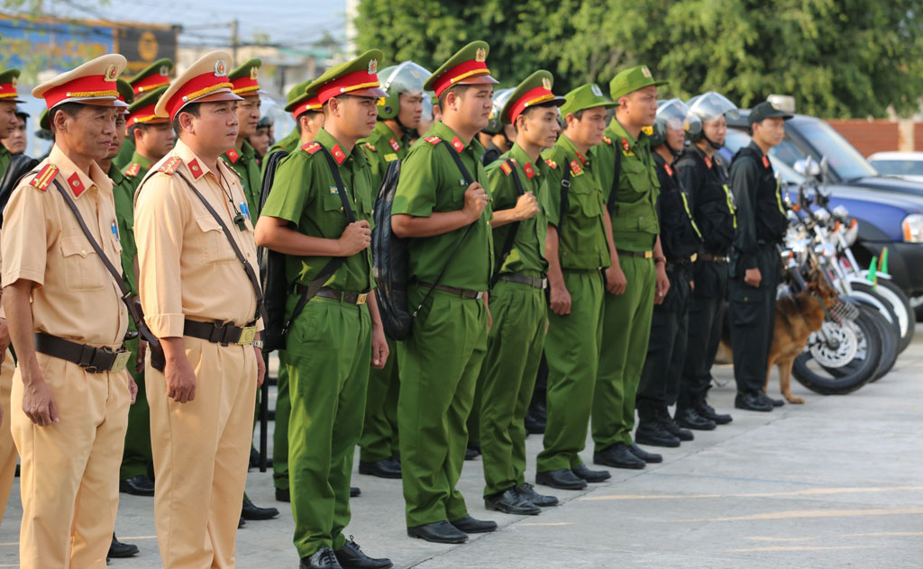
[[[651,142],[641,133],[638,140],[616,119],[605,129],[605,140],[593,149],[597,160],[596,174],[603,186],[605,201],[612,190],[616,152],[621,152],[616,210],[612,214],[612,237],[618,249],[652,251],[660,233],[657,219],[657,196],[660,182],[653,165]]]

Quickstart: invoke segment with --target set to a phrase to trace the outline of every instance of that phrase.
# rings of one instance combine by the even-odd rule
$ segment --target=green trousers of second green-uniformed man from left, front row
[[[409,290],[415,306],[425,289]],[[434,290],[398,345],[398,426],[407,527],[467,516],[462,476],[474,384],[487,350],[487,311],[478,299]]]

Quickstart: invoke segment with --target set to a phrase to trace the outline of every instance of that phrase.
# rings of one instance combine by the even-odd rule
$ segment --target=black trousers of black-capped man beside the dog
[[[766,364],[773,345],[775,295],[781,280],[782,260],[774,244],[761,245],[757,261],[759,288],[744,282],[744,271],[727,281],[731,347],[737,391],[756,391],[766,383]]]

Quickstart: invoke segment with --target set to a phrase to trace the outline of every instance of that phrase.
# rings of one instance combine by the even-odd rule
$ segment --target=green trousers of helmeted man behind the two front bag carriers
[[[368,374],[366,421],[359,439],[359,460],[378,462],[398,456],[398,395],[401,377],[398,374],[397,342],[388,340],[388,362],[380,370]]]

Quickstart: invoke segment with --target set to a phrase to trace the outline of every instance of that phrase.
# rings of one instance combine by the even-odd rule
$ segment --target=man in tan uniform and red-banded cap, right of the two
[[[157,540],[168,569],[234,566],[264,373],[258,277],[222,229],[257,267],[244,190],[220,160],[237,137],[230,61],[206,54],[158,101],[155,113],[170,117],[179,141],[135,195],[138,291],[165,357],[162,371],[149,357],[145,380]]]

